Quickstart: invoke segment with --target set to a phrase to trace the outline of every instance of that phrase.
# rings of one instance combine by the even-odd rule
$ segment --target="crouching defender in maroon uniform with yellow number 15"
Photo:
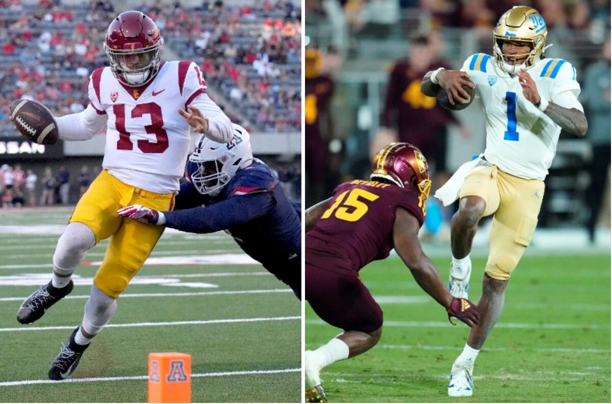
[[[383,311],[359,279],[366,264],[395,249],[414,279],[451,316],[478,324],[476,305],[457,299],[421,249],[418,233],[430,192],[427,160],[409,143],[376,154],[371,181],[338,185],[331,198],[306,211],[306,300],[321,319],[344,332],[304,356],[307,402],[326,402],[319,372],[364,353],[383,331]]]

